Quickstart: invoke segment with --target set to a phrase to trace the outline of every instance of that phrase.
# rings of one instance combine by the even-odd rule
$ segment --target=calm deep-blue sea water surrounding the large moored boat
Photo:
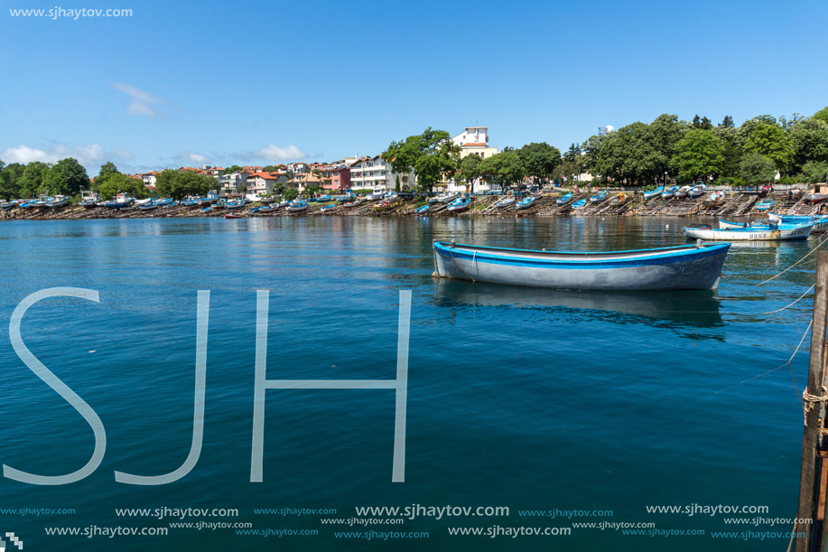
[[[23,320],[35,356],[95,409],[107,430],[98,470],[66,486],[0,479],[0,514],[26,549],[779,550],[786,538],[712,538],[724,514],[647,514],[648,505],[758,505],[795,516],[809,322],[809,242],[731,248],[718,294],[554,292],[430,276],[432,239],[600,250],[683,243],[678,219],[20,221],[0,224],[0,461],[74,472],[92,452],[79,414],[14,353],[8,321],[26,295],[98,290],[100,303],[49,299]],[[424,259],[423,259],[424,257]],[[421,260],[423,259],[423,260]],[[421,262],[418,262],[421,261]],[[178,482],[139,487],[114,472],[172,472],[190,451],[197,290],[210,290],[207,398],[199,463]],[[394,392],[266,392],[265,481],[249,482],[256,290],[270,290],[268,379],[394,379],[399,290],[413,292],[405,483],[391,482]],[[774,371],[770,371],[774,370]],[[796,383],[794,385],[794,379]],[[507,506],[508,517],[330,526],[361,506]],[[240,536],[49,537],[44,528],[169,528],[128,508],[237,509]],[[254,509],[336,509],[267,515]],[[612,510],[543,519],[518,510]],[[756,515],[744,517],[755,517]],[[730,516],[732,517],[732,516]],[[742,517],[740,515],[740,517]],[[180,520],[179,520],[180,521]],[[448,528],[655,522],[705,536],[452,537]],[[428,539],[335,538],[334,531],[423,531]],[[276,541],[276,542],[274,542]]]

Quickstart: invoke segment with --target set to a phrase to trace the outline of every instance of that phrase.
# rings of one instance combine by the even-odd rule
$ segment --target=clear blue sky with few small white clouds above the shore
[[[828,105],[825,2],[671,4],[0,0],[0,158],[332,161],[475,124],[563,150],[665,112]],[[10,14],[55,7],[133,15]]]

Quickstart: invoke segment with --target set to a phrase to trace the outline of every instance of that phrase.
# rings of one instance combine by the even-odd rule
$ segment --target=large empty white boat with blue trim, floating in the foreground
[[[446,278],[557,289],[713,289],[729,243],[631,251],[533,251],[434,241]]]

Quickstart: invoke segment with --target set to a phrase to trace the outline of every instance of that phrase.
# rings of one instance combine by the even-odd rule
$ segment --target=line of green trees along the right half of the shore
[[[392,142],[382,154],[395,173],[414,170],[418,186],[432,190],[448,180],[478,179],[511,186],[525,182],[567,182],[591,174],[592,182],[652,187],[672,182],[717,182],[733,186],[825,182],[828,178],[828,108],[811,117],[761,115],[735,126],[733,117],[713,125],[663,114],[650,124],[635,122],[572,143],[561,154],[545,142],[506,147],[488,158],[468,154],[443,130]]]

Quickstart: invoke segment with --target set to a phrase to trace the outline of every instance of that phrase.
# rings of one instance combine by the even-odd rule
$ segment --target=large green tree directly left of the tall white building
[[[429,126],[421,135],[392,142],[382,158],[391,164],[395,173],[406,174],[413,169],[420,189],[431,192],[434,184],[454,177],[460,164],[460,151],[449,133]]]

